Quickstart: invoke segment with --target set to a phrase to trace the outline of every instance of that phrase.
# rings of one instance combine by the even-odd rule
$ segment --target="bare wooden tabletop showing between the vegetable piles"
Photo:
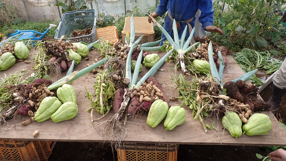
[[[30,56],[28,60],[32,61],[32,56],[35,54],[34,49],[30,51]],[[164,53],[158,53],[160,57]],[[92,64],[94,57],[97,57],[98,53],[93,50],[91,51],[90,61],[85,61],[82,59],[80,65],[75,66],[75,70],[80,70],[86,67],[86,64]],[[243,75],[243,71],[234,61],[231,56],[227,56],[228,66],[224,70],[224,82],[230,81],[232,79],[238,78]],[[4,73],[16,72],[22,69],[30,70],[32,73],[34,70],[31,66],[34,65],[34,61],[30,64],[25,64],[24,62],[18,62],[12,66],[7,71],[0,71],[0,77],[3,77]],[[165,71],[158,71],[155,75],[156,79],[162,84],[163,90],[168,97],[178,96],[178,91],[171,86],[173,82],[170,77],[173,77],[173,70],[171,67],[174,63],[165,63],[161,69]],[[146,68],[143,66],[143,72],[141,76],[146,73]],[[180,72],[180,71],[179,71]],[[140,76],[139,76],[140,77]],[[191,79],[187,76],[188,80]],[[55,78],[52,78],[55,81]],[[9,121],[9,127],[3,129],[0,132],[1,139],[12,139],[12,140],[47,140],[47,141],[79,141],[79,142],[102,142],[107,140],[107,138],[101,138],[97,129],[94,129],[91,125],[90,113],[85,112],[89,105],[89,100],[86,98],[85,86],[87,90],[93,91],[94,81],[96,81],[96,75],[88,73],[83,77],[75,80],[72,86],[75,88],[77,93],[77,102],[79,112],[78,115],[67,121],[62,121],[60,123],[54,123],[52,120],[47,120],[42,123],[33,121],[27,126],[22,126],[21,122],[26,120],[25,117],[22,119],[18,117],[15,120],[16,127],[14,127],[14,120]],[[179,101],[171,101],[171,105],[180,105]],[[184,124],[176,127],[172,131],[167,131],[163,127],[163,121],[156,127],[151,128],[146,124],[147,116],[138,116],[128,120],[126,128],[130,135],[125,137],[123,142],[140,142],[140,143],[179,143],[179,144],[223,144],[223,145],[261,145],[261,146],[286,146],[286,132],[281,127],[279,122],[276,120],[271,112],[262,112],[267,114],[272,121],[272,129],[267,135],[263,136],[247,136],[242,135],[235,139],[232,137],[227,130],[223,130],[221,120],[216,120],[216,126],[219,124],[218,132],[215,130],[208,130],[204,132],[202,125],[199,120],[194,120],[192,117],[192,112],[188,107],[185,107],[187,112],[187,119]],[[113,114],[113,112],[111,112]],[[109,114],[107,117],[110,117]],[[101,115],[98,112],[94,112],[94,118],[98,118]],[[211,125],[210,120],[214,120],[214,116],[209,116],[205,119],[205,122]],[[209,119],[209,120],[208,120]],[[3,127],[2,127],[3,128]],[[35,130],[39,131],[37,137],[33,137],[32,134]]]

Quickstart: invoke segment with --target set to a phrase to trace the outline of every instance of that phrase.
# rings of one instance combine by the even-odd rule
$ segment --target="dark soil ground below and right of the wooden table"
[[[260,93],[268,101],[272,93],[272,84]],[[281,106],[276,116],[278,120],[286,121],[286,95],[282,98]],[[63,150],[64,149],[64,150]],[[179,145],[177,160],[261,160],[256,153],[266,156],[266,147],[259,146],[230,146],[230,145]],[[243,154],[243,155],[242,155]],[[108,143],[57,142],[50,161],[57,160],[117,160],[117,152],[112,153]]]

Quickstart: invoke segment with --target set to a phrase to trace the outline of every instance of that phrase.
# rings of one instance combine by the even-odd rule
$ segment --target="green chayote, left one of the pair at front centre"
[[[168,104],[163,100],[155,100],[148,113],[147,125],[155,128],[164,119],[168,112]]]

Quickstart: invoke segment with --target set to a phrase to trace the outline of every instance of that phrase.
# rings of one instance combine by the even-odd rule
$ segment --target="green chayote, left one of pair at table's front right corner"
[[[242,135],[242,121],[235,112],[226,112],[222,119],[222,122],[224,127],[233,137],[237,138]]]

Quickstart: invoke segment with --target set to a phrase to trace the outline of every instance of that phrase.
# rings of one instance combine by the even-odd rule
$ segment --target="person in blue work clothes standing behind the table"
[[[216,32],[223,34],[223,31],[215,26],[212,26],[213,14],[212,11],[212,0],[160,0],[160,4],[157,6],[157,10],[150,14],[153,18],[162,16],[168,11],[165,17],[164,29],[173,36],[173,19],[175,18],[179,33],[179,38],[181,38],[185,26],[188,25],[187,34],[185,40],[189,37],[192,27],[195,26],[195,14],[197,10],[201,10],[199,16],[199,22],[203,26],[203,30],[209,32]],[[149,23],[152,22],[152,19],[149,17]],[[165,35],[162,33],[162,38],[165,38],[163,41],[167,40]],[[160,46],[163,44],[161,41]]]

